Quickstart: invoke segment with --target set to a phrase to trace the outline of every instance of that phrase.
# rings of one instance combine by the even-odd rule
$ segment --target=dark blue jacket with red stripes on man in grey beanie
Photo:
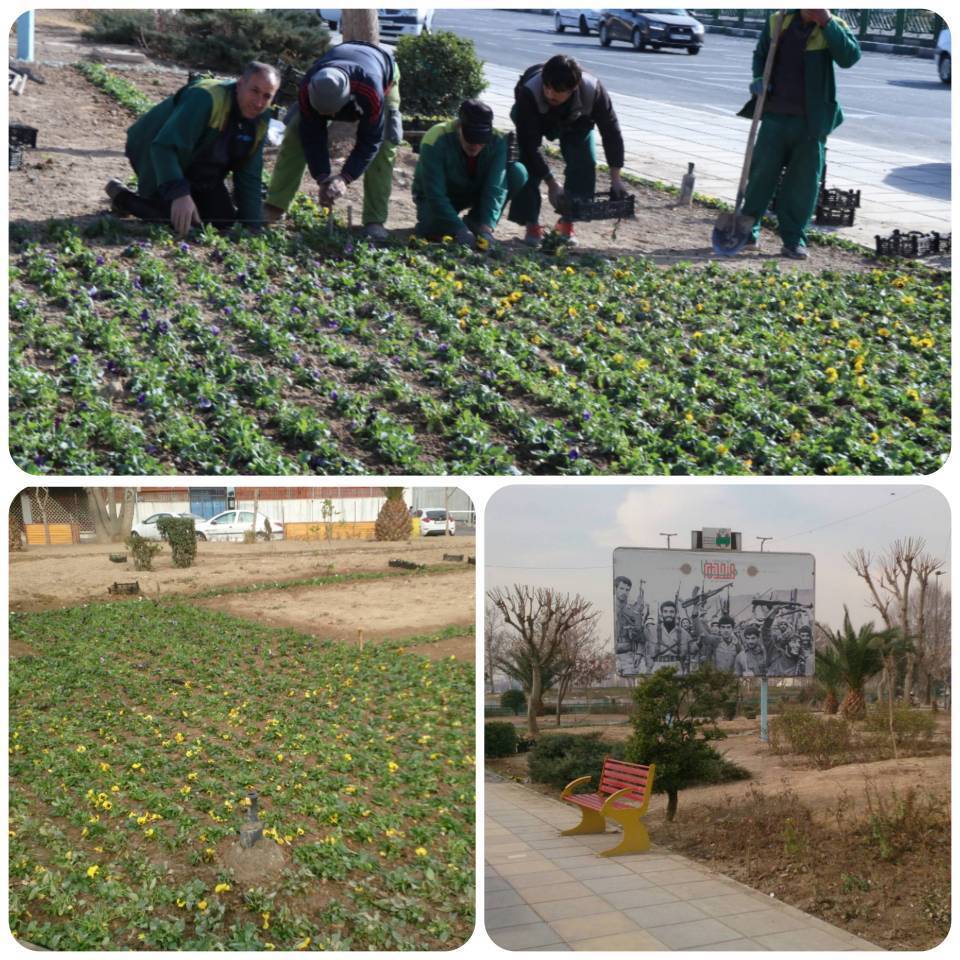
[[[362,177],[377,155],[386,130],[385,95],[394,82],[396,68],[388,50],[372,43],[341,43],[331,47],[307,71],[300,85],[300,140],[307,166],[316,180],[330,174],[327,148],[329,117],[322,117],[310,105],[310,81],[324,67],[337,67],[350,81],[350,100],[334,120],[357,121],[357,140],[343,165],[342,174],[350,183]]]

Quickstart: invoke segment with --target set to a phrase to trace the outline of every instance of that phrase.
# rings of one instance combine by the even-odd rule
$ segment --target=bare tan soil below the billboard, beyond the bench
[[[633,732],[626,717],[609,717],[610,723],[589,725],[588,723],[563,724],[563,732],[596,733],[602,732],[605,739],[625,740]],[[868,785],[882,786],[884,791],[896,789],[905,793],[910,787],[922,786],[932,793],[950,791],[950,757],[908,757],[903,760],[880,760],[875,763],[845,765],[831,770],[812,770],[803,767],[789,757],[778,756],[767,744],[760,741],[760,721],[737,718],[733,721],[721,721],[720,728],[727,734],[726,740],[716,746],[730,760],[750,771],[751,779],[738,780],[719,786],[691,787],[680,794],[678,817],[683,816],[684,808],[693,805],[714,804],[724,797],[743,797],[752,790],[780,792],[785,789],[794,791],[800,800],[810,803],[823,816],[830,816],[836,802],[846,795],[849,805],[863,807],[866,802]],[[949,737],[949,716],[940,721],[944,737]],[[522,727],[520,729],[523,729]],[[556,732],[557,728],[550,717],[540,719],[540,732]],[[491,769],[502,776],[526,779],[527,758],[524,754],[487,761]],[[559,791],[543,784],[529,784],[548,796],[556,797]],[[654,794],[650,801],[648,823],[656,825],[664,822],[666,795]]]

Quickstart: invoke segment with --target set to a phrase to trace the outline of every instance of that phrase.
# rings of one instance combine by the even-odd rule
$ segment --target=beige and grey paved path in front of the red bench
[[[560,837],[578,812],[516,783],[485,784],[487,933],[507,950],[880,950],[654,846],[597,856],[611,833]]]

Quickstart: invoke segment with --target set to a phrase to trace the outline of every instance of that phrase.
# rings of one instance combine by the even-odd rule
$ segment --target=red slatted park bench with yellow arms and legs
[[[616,857],[621,853],[643,853],[650,849],[650,835],[641,817],[647,812],[650,792],[653,789],[655,764],[649,767],[624,760],[603,761],[600,786],[596,793],[574,793],[592,777],[579,777],[568,783],[560,799],[580,808],[580,822],[561,836],[572,837],[580,833],[604,833],[606,821],[613,820],[623,828],[623,838],[615,847],[604,850],[601,857]]]

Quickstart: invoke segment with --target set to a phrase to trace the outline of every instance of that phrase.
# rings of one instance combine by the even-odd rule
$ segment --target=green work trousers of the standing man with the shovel
[[[807,133],[804,117],[783,113],[764,116],[743,198],[743,212],[756,218],[754,237],[760,236],[760,218],[784,170],[777,195],[777,229],[786,246],[806,246],[807,227],[817,209],[825,151],[826,141]]]

